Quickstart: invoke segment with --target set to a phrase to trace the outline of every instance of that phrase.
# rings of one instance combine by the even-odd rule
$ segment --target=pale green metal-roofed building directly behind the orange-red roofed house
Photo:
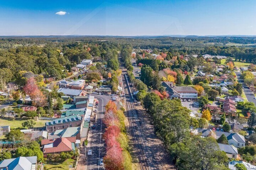
[[[70,127],[66,129],[56,130],[48,135],[48,139],[53,138],[68,138],[68,137],[76,137],[77,140],[80,140],[81,136],[81,127]]]

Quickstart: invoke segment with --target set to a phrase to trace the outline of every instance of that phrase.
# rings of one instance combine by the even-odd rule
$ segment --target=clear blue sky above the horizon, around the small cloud
[[[255,9],[255,0],[0,0],[0,36],[256,35]]]

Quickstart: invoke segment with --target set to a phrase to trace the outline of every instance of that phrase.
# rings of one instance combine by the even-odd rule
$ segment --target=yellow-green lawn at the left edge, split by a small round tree
[[[14,120],[8,120],[8,117],[4,117],[0,119],[0,126],[9,125],[11,128],[23,128],[21,123],[25,122],[27,119],[16,118]],[[45,122],[49,120],[38,120],[36,121],[36,125],[34,127],[43,127],[45,126]]]

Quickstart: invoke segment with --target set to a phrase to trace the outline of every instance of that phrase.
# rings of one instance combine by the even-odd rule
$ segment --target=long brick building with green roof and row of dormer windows
[[[52,132],[59,129],[81,126],[84,122],[83,117],[83,115],[70,115],[51,120],[50,122],[45,122],[46,130]]]

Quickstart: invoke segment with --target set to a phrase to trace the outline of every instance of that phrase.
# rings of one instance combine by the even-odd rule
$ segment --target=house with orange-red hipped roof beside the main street
[[[43,154],[70,152],[75,150],[76,137],[43,139]]]

